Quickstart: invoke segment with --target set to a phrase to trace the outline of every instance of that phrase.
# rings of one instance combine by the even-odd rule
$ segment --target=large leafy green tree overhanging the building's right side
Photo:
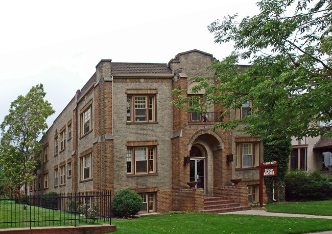
[[[295,6],[294,6],[295,5]],[[330,0],[262,0],[260,13],[235,21],[236,15],[211,23],[216,43],[234,43],[234,51],[208,69],[213,77],[200,81],[193,92],[205,89],[201,101],[179,98],[173,103],[203,112],[209,105],[225,107],[221,118],[250,101],[243,120],[216,124],[214,129],[239,129],[262,139],[295,136],[332,136],[332,5]],[[295,9],[291,14],[290,9]],[[247,68],[238,66],[249,60]],[[183,91],[174,91],[181,93]],[[255,110],[255,112],[253,111]]]

